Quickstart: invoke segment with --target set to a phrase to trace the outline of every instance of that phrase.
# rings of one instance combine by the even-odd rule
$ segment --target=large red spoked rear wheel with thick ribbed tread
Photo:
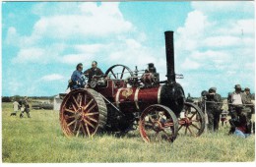
[[[93,136],[104,129],[107,109],[94,89],[70,91],[60,107],[60,124],[65,136]]]

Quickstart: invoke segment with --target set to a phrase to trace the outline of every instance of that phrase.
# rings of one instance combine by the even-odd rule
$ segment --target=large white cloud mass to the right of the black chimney
[[[254,10],[250,2],[192,2],[185,24],[175,34],[175,54],[184,74],[184,89],[236,83],[254,84]],[[182,72],[183,71],[183,72]],[[199,94],[199,92],[197,93]]]

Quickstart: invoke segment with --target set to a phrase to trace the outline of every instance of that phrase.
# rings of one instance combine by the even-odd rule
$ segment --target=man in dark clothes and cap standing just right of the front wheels
[[[216,87],[211,87],[206,95],[206,110],[208,115],[208,130],[216,132],[219,130],[220,115],[223,107],[222,96],[216,92]]]

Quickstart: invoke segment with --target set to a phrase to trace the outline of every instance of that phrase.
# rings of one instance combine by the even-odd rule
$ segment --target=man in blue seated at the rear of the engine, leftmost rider
[[[79,63],[77,69],[73,72],[71,80],[69,81],[69,86],[71,89],[83,88],[86,85],[85,76],[82,73],[83,64]]]

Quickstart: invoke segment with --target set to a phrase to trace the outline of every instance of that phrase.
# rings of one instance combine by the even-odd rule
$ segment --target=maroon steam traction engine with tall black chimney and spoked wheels
[[[153,63],[143,73],[137,67],[135,71],[124,65],[110,67],[104,76],[95,76],[88,88],[65,95],[60,123],[66,136],[126,133],[136,126],[146,142],[203,133],[204,114],[185,102],[184,90],[175,81],[180,75],[174,72],[173,31],[164,34],[167,80],[160,82]]]

